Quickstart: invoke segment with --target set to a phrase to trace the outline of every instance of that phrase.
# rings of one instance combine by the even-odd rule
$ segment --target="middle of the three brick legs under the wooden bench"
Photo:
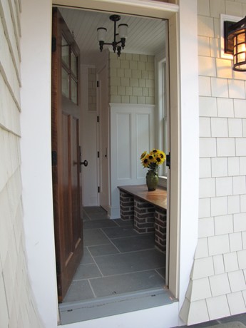
[[[134,199],[134,228],[139,233],[155,231],[155,206],[138,198]]]

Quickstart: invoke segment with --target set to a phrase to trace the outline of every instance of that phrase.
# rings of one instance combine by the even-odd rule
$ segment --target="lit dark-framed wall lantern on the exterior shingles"
[[[233,55],[234,71],[246,71],[246,16],[233,23],[224,21],[225,53]]]

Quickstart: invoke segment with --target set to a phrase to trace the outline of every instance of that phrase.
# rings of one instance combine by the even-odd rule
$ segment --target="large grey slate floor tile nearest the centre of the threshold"
[[[92,279],[90,282],[96,297],[136,292],[165,285],[164,280],[154,270]]]

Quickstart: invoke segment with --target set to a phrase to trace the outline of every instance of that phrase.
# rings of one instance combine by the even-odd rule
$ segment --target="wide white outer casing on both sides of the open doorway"
[[[128,2],[132,1],[128,0]],[[138,3],[140,2],[145,3],[145,1],[138,1]],[[156,1],[148,1],[149,5],[155,3]],[[161,11],[162,5],[164,5],[163,2],[158,2],[159,11]],[[115,7],[111,6],[112,8]],[[37,13],[39,15],[36,15]],[[180,1],[180,12],[177,13],[177,16],[178,26],[175,26],[174,31],[177,31],[181,37],[176,46],[178,58],[173,58],[173,63],[175,76],[178,76],[175,81],[178,81],[179,88],[176,93],[179,97],[173,101],[176,100],[179,103],[176,108],[176,104],[173,103],[173,107],[179,116],[179,108],[182,108],[182,116],[179,117],[180,128],[182,128],[179,128],[182,153],[180,152],[181,163],[173,163],[173,165],[179,165],[182,178],[180,183],[182,200],[180,202],[182,207],[180,210],[182,225],[180,250],[178,248],[180,254],[180,302],[175,302],[173,307],[165,305],[148,309],[148,311],[141,312],[140,316],[139,312],[132,312],[124,314],[123,319],[121,316],[107,317],[108,327],[115,327],[116,323],[122,324],[122,322],[124,322],[124,327],[128,327],[134,316],[138,317],[143,325],[155,322],[156,327],[158,324],[163,327],[163,318],[165,318],[165,327],[177,326],[178,307],[183,304],[190,279],[195,246],[198,241],[199,202],[197,0]],[[34,24],[34,18],[36,24]],[[53,246],[51,138],[49,134],[51,128],[51,0],[23,1],[21,30],[21,81],[23,86],[20,91],[23,108],[21,113],[21,175],[26,254],[29,258],[31,287],[41,319],[46,327],[54,327],[58,312],[56,312],[56,261]],[[37,35],[39,38],[36,38]],[[176,41],[172,40],[172,42]],[[32,54],[31,60],[30,53]],[[34,76],[34,72],[36,76]],[[34,78],[30,79],[30,76]],[[172,88],[176,86],[173,83]],[[186,128],[190,126],[193,128]],[[191,149],[193,151],[190,151]],[[37,158],[41,158],[41,160],[37,161]],[[178,219],[174,218],[174,220],[177,222]],[[44,293],[43,290],[46,292]],[[105,319],[98,319],[98,324],[105,323]]]

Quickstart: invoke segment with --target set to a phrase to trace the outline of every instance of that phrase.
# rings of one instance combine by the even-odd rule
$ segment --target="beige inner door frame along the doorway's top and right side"
[[[193,1],[193,0],[192,0]],[[172,161],[178,163],[170,170],[170,225],[169,225],[169,290],[174,297],[179,298],[179,271],[180,271],[180,94],[179,88],[179,31],[178,12],[179,6],[158,1],[140,0],[53,0],[53,6],[66,6],[73,9],[88,9],[93,11],[114,11],[121,14],[137,14],[141,9],[140,16],[155,17],[158,19],[169,19],[169,66],[170,66],[170,115]],[[173,122],[173,123],[172,123]]]

